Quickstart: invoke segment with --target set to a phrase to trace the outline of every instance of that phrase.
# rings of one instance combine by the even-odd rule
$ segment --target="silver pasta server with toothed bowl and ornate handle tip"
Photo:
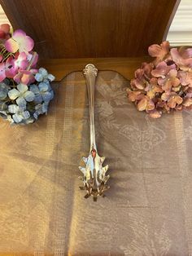
[[[109,186],[106,185],[109,175],[106,176],[108,166],[103,167],[105,157],[98,156],[98,150],[95,142],[94,131],[94,85],[98,74],[98,69],[93,64],[87,64],[83,70],[85,75],[86,86],[89,99],[89,126],[90,126],[90,150],[89,156],[83,157],[85,167],[79,166],[83,173],[81,180],[84,183],[81,189],[85,190],[85,198],[94,196],[94,201],[97,201],[98,196],[104,196]]]

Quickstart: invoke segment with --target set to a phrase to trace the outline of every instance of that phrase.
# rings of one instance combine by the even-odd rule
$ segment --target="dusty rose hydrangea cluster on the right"
[[[155,60],[135,71],[129,99],[154,118],[192,108],[192,48],[170,48],[165,41],[150,46],[148,52]]]

